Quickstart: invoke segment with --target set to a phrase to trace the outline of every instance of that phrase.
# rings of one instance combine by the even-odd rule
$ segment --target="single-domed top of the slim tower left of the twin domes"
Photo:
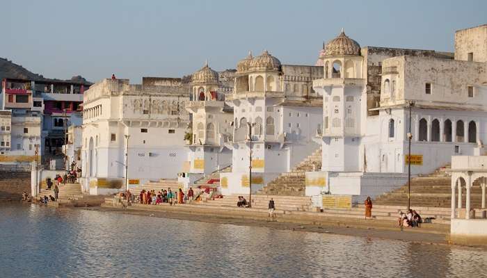
[[[193,100],[195,101],[218,100],[216,90],[219,86],[218,72],[211,70],[208,62],[205,63],[201,70],[191,76],[191,88]]]

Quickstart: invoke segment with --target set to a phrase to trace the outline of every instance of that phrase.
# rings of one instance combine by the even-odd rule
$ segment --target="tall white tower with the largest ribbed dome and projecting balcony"
[[[366,106],[363,58],[360,44],[344,31],[330,40],[321,53],[324,79],[313,82],[323,95],[323,163],[325,171],[358,171],[362,127],[360,119]]]

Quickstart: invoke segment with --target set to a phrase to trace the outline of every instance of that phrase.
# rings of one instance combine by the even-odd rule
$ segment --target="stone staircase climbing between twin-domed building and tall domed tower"
[[[319,147],[310,156],[296,165],[291,172],[280,174],[276,179],[267,183],[257,194],[304,196],[306,187],[305,172],[321,170],[321,152]]]

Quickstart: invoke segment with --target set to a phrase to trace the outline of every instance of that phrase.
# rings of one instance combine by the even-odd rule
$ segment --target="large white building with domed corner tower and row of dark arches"
[[[320,54],[324,79],[323,190],[374,197],[458,154],[483,150],[487,137],[487,25],[457,31],[455,53],[360,48],[343,32]],[[480,146],[480,148],[479,148]],[[308,179],[313,180],[313,179]],[[318,179],[315,179],[318,180]]]

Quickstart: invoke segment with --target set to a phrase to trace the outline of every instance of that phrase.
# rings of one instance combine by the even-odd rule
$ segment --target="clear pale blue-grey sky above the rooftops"
[[[487,24],[487,1],[0,0],[0,57],[48,78],[181,77],[264,49],[314,65],[342,28],[360,46],[454,51]]]

